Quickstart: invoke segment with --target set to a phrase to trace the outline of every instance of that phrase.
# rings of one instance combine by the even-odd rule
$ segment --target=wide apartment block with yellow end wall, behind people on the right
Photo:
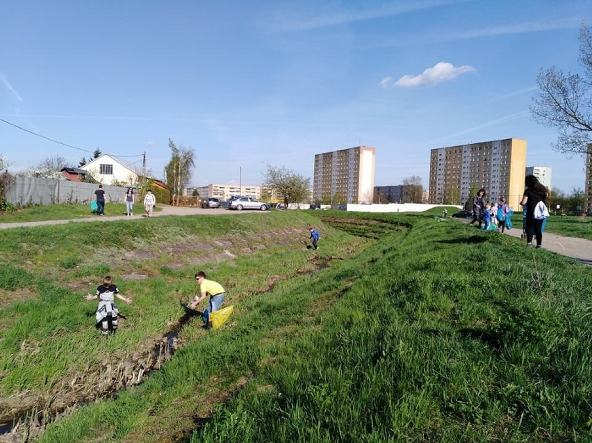
[[[484,188],[486,200],[505,196],[519,208],[524,193],[526,140],[507,138],[431,150],[429,202],[464,204],[471,188]]]

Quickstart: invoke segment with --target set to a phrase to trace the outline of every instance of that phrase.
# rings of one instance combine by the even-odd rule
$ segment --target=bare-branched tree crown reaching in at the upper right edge
[[[579,32],[578,62],[584,74],[564,74],[556,67],[541,69],[536,83],[538,96],[530,106],[534,120],[557,128],[559,136],[552,149],[568,157],[586,155],[592,143],[592,35],[586,22]]]

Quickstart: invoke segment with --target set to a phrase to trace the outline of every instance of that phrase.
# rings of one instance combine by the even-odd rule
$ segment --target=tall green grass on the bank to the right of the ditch
[[[328,267],[302,272],[294,250],[211,264],[235,282],[230,323],[189,323],[161,371],[41,441],[591,440],[590,268],[460,223],[366,217],[379,241]],[[329,255],[351,241],[324,232]]]

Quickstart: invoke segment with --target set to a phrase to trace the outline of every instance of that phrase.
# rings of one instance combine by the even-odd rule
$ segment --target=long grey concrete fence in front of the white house
[[[89,203],[98,184],[38,177],[13,177],[6,187],[6,200],[18,206],[27,204]],[[127,187],[103,185],[107,202],[124,202]]]

